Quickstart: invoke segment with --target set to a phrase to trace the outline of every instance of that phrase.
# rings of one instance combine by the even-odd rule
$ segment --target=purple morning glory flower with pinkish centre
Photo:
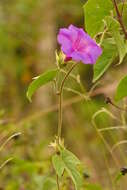
[[[95,64],[102,54],[101,47],[82,29],[70,25],[61,28],[57,37],[65,61],[81,61],[84,64]]]

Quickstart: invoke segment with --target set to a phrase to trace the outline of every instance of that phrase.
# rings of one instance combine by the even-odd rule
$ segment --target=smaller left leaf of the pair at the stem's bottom
[[[63,162],[63,160],[61,158],[61,155],[55,154],[52,157],[52,163],[53,163],[54,169],[56,171],[56,174],[59,177],[61,177],[63,172],[64,172],[64,169],[65,169],[65,165],[64,165],[64,162]]]

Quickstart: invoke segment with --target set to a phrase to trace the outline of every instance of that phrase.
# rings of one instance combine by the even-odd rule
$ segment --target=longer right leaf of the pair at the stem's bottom
[[[71,177],[75,185],[75,189],[79,190],[82,186],[82,176],[77,170],[77,164],[80,164],[79,159],[66,149],[63,149],[61,151],[61,156],[65,165],[65,170],[67,171],[68,175]]]

